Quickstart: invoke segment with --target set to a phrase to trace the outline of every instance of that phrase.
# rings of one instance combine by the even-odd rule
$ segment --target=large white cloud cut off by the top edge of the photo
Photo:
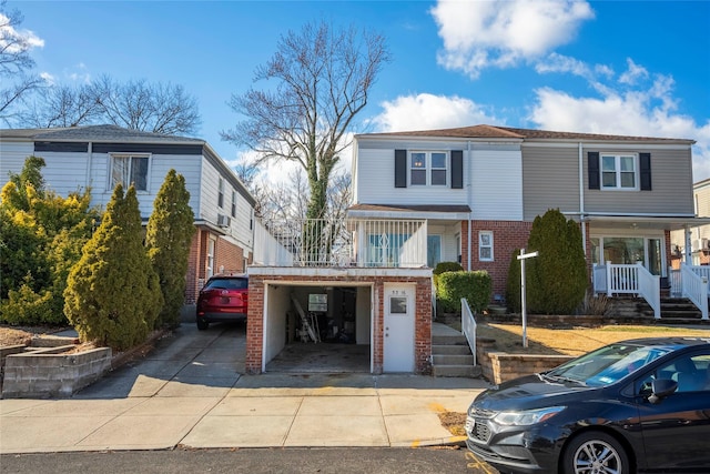
[[[545,56],[594,18],[589,3],[567,0],[439,0],[430,12],[444,40],[439,63],[473,79]]]

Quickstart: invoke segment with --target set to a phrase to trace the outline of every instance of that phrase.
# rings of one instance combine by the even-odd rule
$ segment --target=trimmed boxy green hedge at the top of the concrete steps
[[[445,272],[439,275],[438,305],[446,313],[460,313],[462,297],[468,301],[470,309],[479,313],[490,302],[493,280],[488,272]]]

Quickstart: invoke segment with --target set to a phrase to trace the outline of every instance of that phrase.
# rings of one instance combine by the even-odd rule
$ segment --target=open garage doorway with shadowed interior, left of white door
[[[369,286],[268,285],[266,372],[371,372]]]

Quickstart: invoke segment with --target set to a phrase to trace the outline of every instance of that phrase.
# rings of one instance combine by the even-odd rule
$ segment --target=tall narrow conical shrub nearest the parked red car
[[[156,326],[174,327],[180,324],[194,232],[194,213],[190,208],[185,179],[170,170],[155,196],[145,235],[148,255],[160,280],[164,300]]]

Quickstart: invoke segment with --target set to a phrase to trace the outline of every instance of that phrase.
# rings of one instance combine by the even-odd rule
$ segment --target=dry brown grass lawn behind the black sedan
[[[523,326],[520,324],[478,324],[478,337],[495,340],[496,351],[529,354],[581,355],[591,350],[617,341],[637,337],[667,335],[700,336],[710,339],[710,326],[700,330],[678,326],[604,325],[599,327],[549,329],[531,327],[527,330],[528,347],[523,347]]]

